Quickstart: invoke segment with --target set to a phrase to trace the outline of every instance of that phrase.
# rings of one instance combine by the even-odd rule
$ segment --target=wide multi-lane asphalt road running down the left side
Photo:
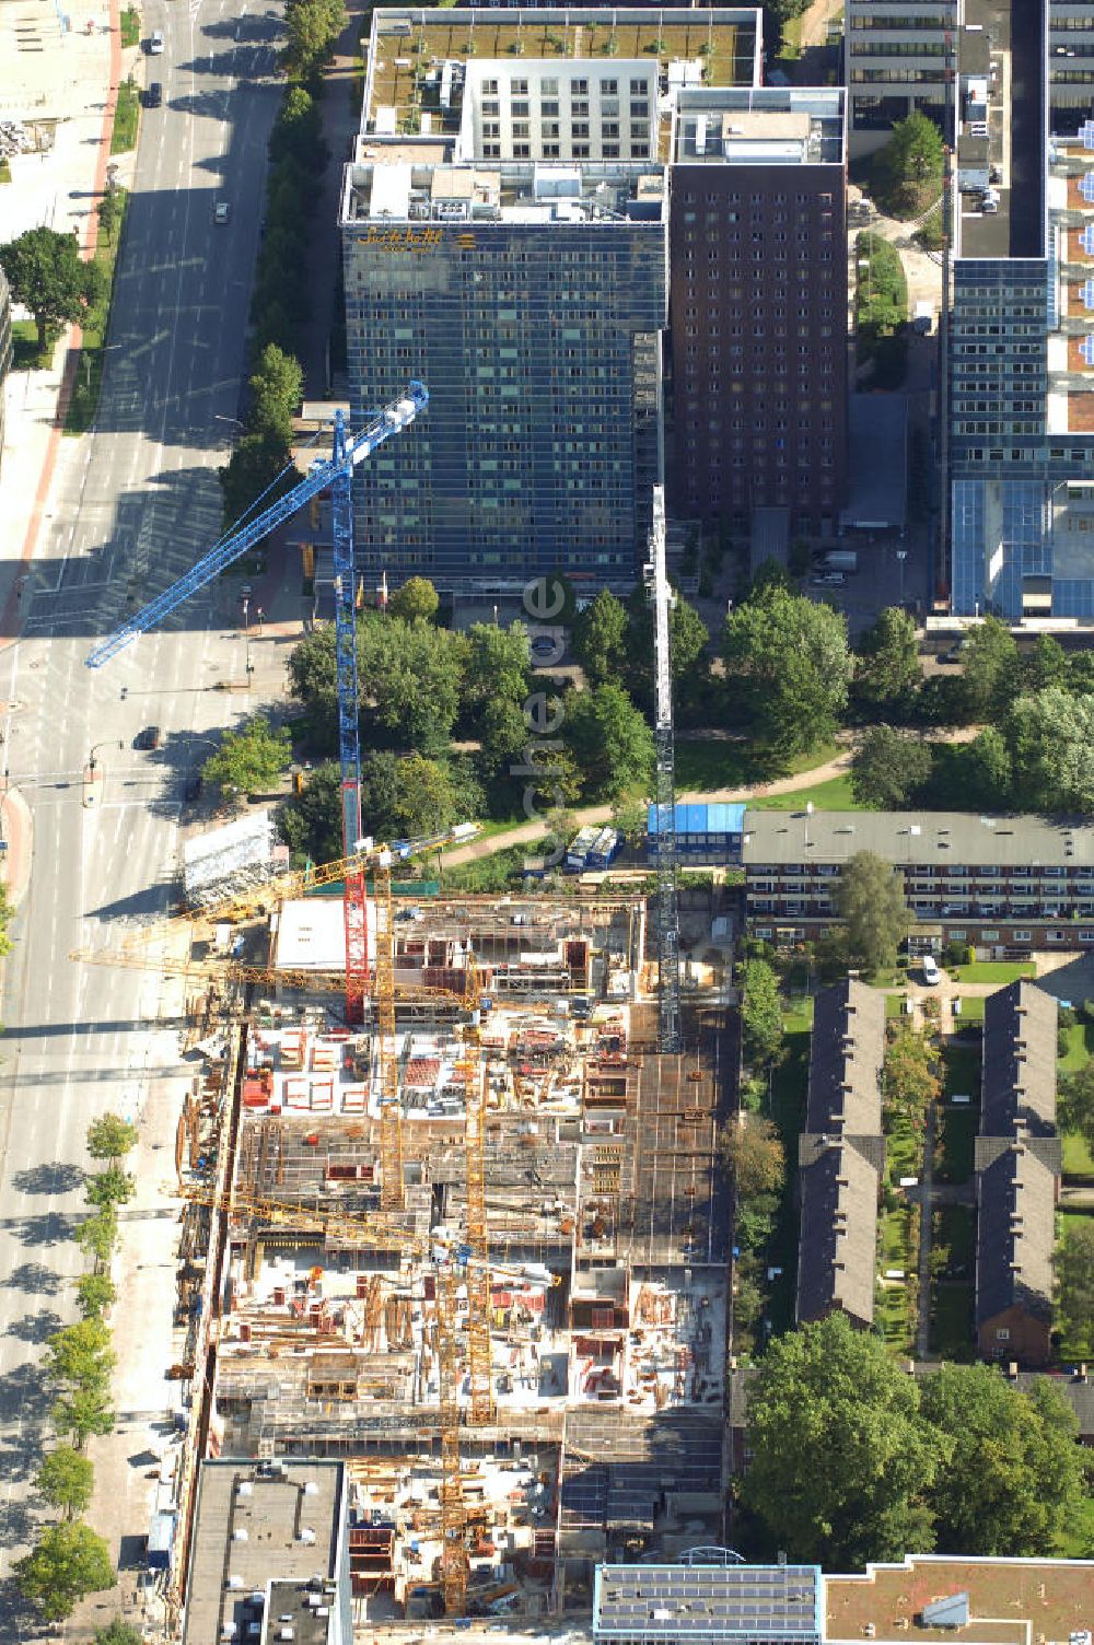
[[[107,1107],[161,1112],[179,1076],[178,1036],[158,1022],[158,979],[77,966],[67,954],[165,906],[186,770],[202,757],[199,739],[239,712],[209,688],[242,671],[232,622],[240,579],[197,597],[168,632],[99,673],[84,655],[219,533],[214,469],[230,428],[216,418],[237,410],[265,141],[280,97],[270,77],[276,16],[242,10],[242,0],[151,0],[145,10],[145,30],[166,36],[165,54],[146,61],[163,107],[143,115],[100,424],[67,452],[21,600],[25,635],[0,655],[8,773],[35,822],[2,1010],[0,1578],[38,1517],[26,1500],[49,1403],[38,1360],[44,1337],[74,1318],[67,1281],[82,1258],[71,1232],[84,1209],[87,1122]],[[232,206],[224,227],[214,224],[216,199]],[[133,737],[150,722],[163,729],[163,748],[138,753]],[[102,780],[89,808],[92,748]],[[150,1168],[141,1155],[138,1170]],[[161,1290],[169,1326],[169,1277]],[[143,1326],[118,1324],[118,1342]],[[151,1349],[166,1364],[169,1337]],[[158,1403],[151,1388],[143,1405]],[[135,1449],[133,1433],[115,1444]],[[133,1495],[135,1523],[125,1525],[127,1502],[110,1510],[123,1531],[146,1530],[143,1494]],[[0,1637],[28,1635],[3,1584]]]

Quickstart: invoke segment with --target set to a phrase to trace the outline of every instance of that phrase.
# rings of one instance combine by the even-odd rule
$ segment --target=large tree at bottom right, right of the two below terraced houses
[[[1038,1377],[1023,1393],[994,1365],[944,1365],[925,1379],[921,1410],[949,1456],[931,1487],[939,1548],[1055,1553],[1082,1499],[1079,1425],[1056,1388]]]

